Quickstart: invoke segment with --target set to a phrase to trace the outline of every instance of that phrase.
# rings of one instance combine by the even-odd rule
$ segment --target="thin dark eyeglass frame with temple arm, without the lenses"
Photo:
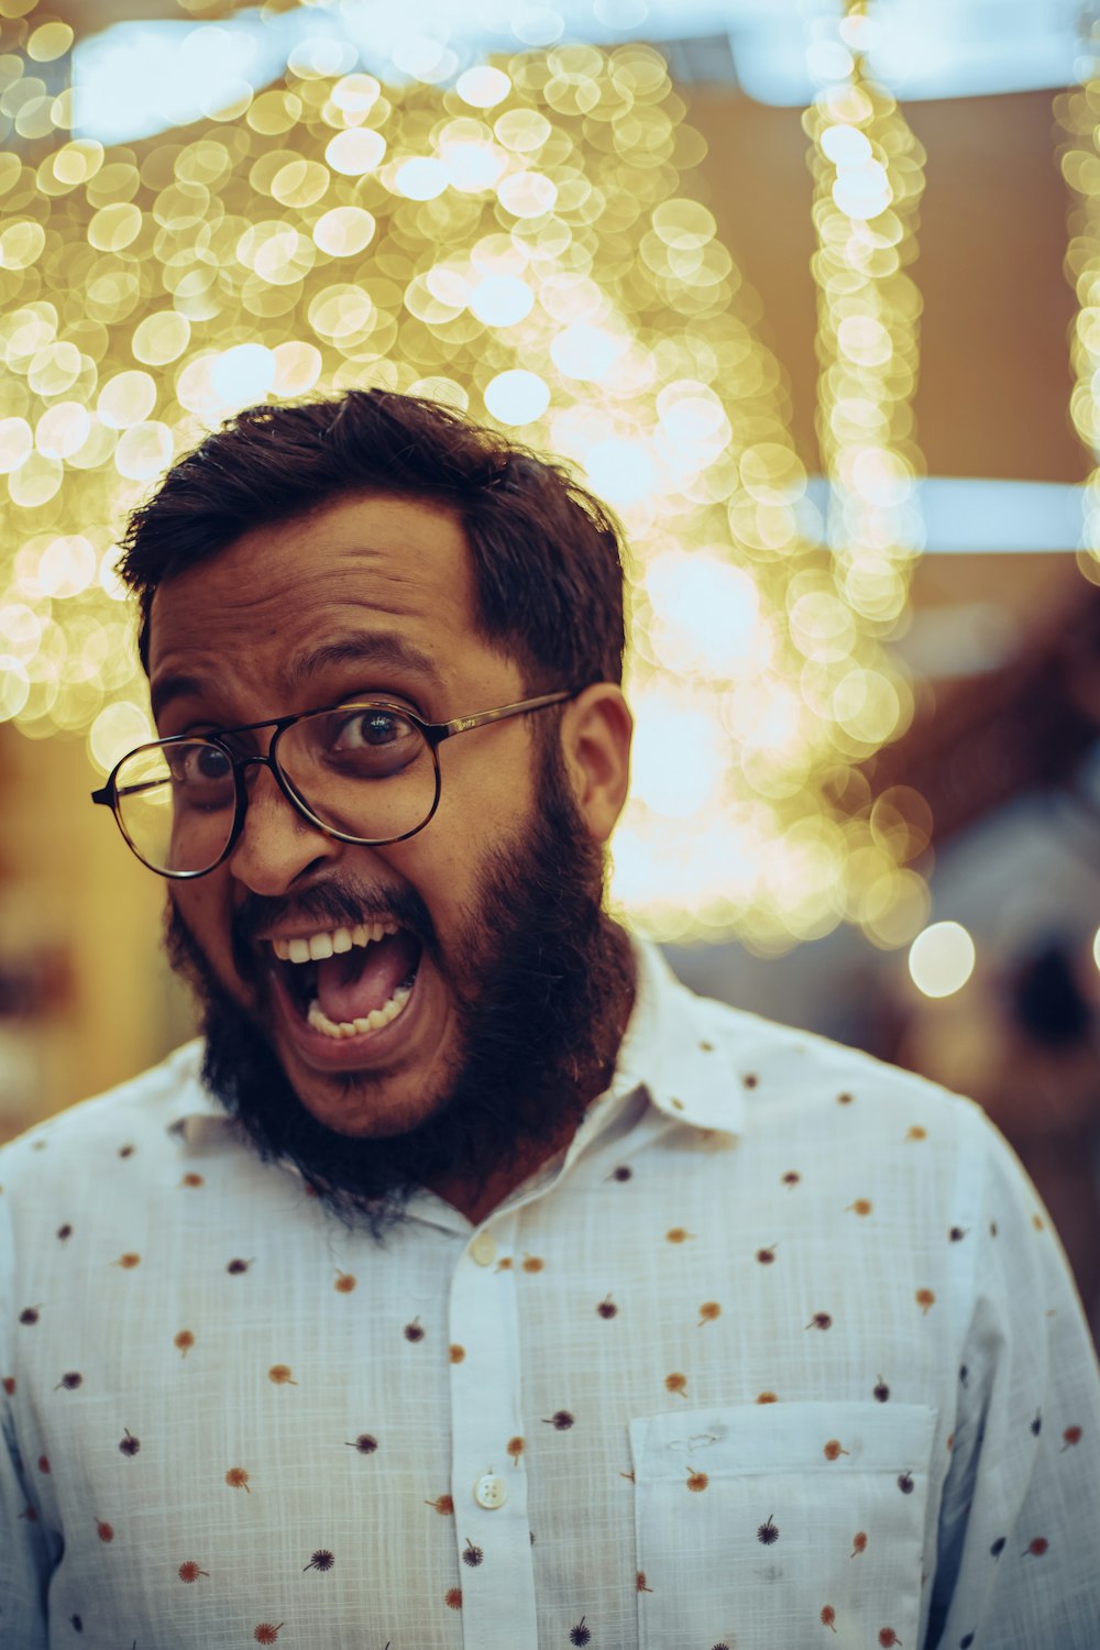
[[[219,865],[224,865],[224,861],[236,848],[237,842],[241,840],[241,832],[244,830],[244,818],[249,805],[249,790],[244,780],[246,767],[267,767],[274,774],[275,784],[279,785],[280,792],[284,794],[290,807],[294,807],[302,815],[302,818],[305,818],[315,830],[323,832],[325,837],[331,837],[336,842],[346,842],[353,848],[386,848],[394,842],[407,842],[409,837],[417,837],[424,830],[424,827],[429,825],[435,817],[435,810],[439,808],[439,799],[444,789],[444,779],[439,767],[439,747],[444,742],[444,739],[454,739],[457,733],[470,733],[473,728],[487,728],[491,723],[506,721],[510,716],[524,716],[529,711],[549,710],[551,705],[564,705],[566,700],[574,700],[579,691],[581,688],[571,688],[559,693],[539,693],[531,700],[518,700],[515,705],[500,705],[496,706],[496,710],[478,711],[475,716],[452,716],[450,721],[442,721],[442,723],[424,721],[424,718],[417,716],[416,711],[407,710],[407,706],[404,705],[394,705],[391,700],[351,698],[351,700],[336,700],[335,705],[318,705],[315,710],[308,711],[295,711],[290,716],[270,716],[266,721],[241,723],[236,728],[216,728],[211,733],[168,734],[167,739],[148,739],[145,744],[137,744],[134,746],[132,751],[127,751],[125,756],[119,757],[119,761],[115,762],[107,777],[106,785],[101,785],[99,790],[92,790],[91,799],[92,802],[97,802],[102,807],[110,808],[110,812],[114,813],[115,825],[122,833],[122,840],[125,842],[127,848],[134,853],[134,856],[140,860],[145,870],[152,871],[153,876],[165,876],[173,883],[193,881],[196,876],[209,876],[209,873],[216,871]],[[435,795],[432,799],[432,807],[429,808],[427,815],[421,820],[419,825],[414,825],[412,830],[402,832],[399,837],[353,837],[350,832],[336,830],[335,825],[327,825],[325,820],[322,820],[317,813],[313,813],[313,810],[305,802],[305,797],[300,797],[295,792],[294,785],[290,784],[282,767],[279,766],[277,759],[279,739],[289,728],[294,728],[294,724],[299,721],[305,721],[308,716],[323,716],[328,711],[353,710],[356,706],[361,710],[369,708],[369,710],[394,711],[397,716],[404,716],[406,721],[411,721],[414,728],[421,731],[424,742],[432,754],[432,766],[435,769]],[[251,754],[241,754],[239,751],[234,751],[228,744],[231,734],[256,733],[261,728],[275,729],[267,742],[266,754],[259,751]],[[201,871],[163,871],[160,870],[160,866],[150,865],[148,860],[142,853],[139,853],[125,825],[122,823],[122,813],[119,810],[117,776],[120,769],[130,761],[130,757],[139,754],[139,751],[163,749],[175,744],[196,744],[200,741],[213,744],[216,749],[223,751],[229,757],[229,764],[233,767],[233,790],[234,790],[233,828],[229,832],[224,848],[213,861],[213,865],[204,866]],[[143,789],[143,787],[134,787],[134,789]]]

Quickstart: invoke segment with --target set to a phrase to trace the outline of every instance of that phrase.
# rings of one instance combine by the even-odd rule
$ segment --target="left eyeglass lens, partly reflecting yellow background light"
[[[155,871],[208,871],[233,835],[233,762],[208,739],[132,751],[115,774],[115,794],[130,846]]]

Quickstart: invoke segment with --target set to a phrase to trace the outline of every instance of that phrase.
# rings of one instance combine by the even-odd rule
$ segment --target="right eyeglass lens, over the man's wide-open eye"
[[[393,842],[435,807],[432,749],[393,705],[302,716],[275,739],[275,761],[310,813],[345,837]]]

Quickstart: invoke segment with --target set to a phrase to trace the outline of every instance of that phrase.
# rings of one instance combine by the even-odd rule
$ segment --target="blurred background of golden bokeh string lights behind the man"
[[[633,546],[613,899],[976,1097],[1100,1323],[1100,119],[1069,0],[0,0],[0,1138],[191,1035],[117,536],[381,383]]]

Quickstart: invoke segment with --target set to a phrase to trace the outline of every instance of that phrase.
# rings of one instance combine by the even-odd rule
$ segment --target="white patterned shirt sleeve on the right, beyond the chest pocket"
[[[960,1196],[976,1239],[970,1317],[927,1645],[1095,1650],[1095,1350],[1051,1216],[976,1109],[973,1125],[971,1170],[960,1165],[960,1185],[973,1188]]]

